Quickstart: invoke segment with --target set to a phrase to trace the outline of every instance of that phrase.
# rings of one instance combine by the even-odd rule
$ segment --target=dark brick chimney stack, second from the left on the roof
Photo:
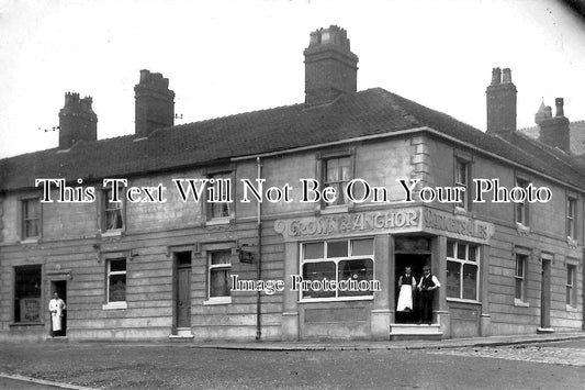
[[[138,137],[147,137],[157,129],[175,124],[175,92],[169,89],[169,79],[143,69],[134,92],[135,134]]]

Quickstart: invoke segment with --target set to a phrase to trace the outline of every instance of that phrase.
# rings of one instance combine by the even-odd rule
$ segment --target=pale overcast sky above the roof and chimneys
[[[348,31],[358,90],[381,87],[485,130],[492,68],[511,68],[518,126],[541,99],[585,119],[585,29],[561,2],[0,0],[0,158],[56,147],[66,91],[98,137],[134,133],[139,70],[195,122],[304,101],[311,31]],[[40,130],[41,129],[41,130]]]

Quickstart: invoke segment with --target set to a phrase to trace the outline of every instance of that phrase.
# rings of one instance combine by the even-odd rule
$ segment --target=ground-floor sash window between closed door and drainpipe
[[[210,253],[209,264],[209,302],[230,302],[232,289],[232,250],[216,250]]]

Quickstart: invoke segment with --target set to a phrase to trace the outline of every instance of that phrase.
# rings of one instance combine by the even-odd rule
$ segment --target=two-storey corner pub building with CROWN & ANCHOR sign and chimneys
[[[509,69],[496,68],[484,133],[383,89],[357,91],[358,57],[337,26],[313,32],[304,55],[303,103],[184,125],[173,125],[168,79],[143,70],[135,134],[110,140],[97,140],[91,98],[67,93],[59,146],[0,160],[0,337],[47,337],[54,291],[66,301],[70,339],[582,330],[585,170],[569,153],[562,100],[532,140],[516,130]],[[95,199],[41,202],[40,178],[94,187]],[[104,178],[127,179],[120,202]],[[183,178],[230,179],[223,190],[235,201],[183,202],[172,181]],[[290,183],[295,201],[240,202],[240,179],[256,178],[266,179],[265,189]],[[360,178],[385,188],[389,201],[301,203],[301,178],[336,189]],[[548,187],[552,198],[496,203],[488,193],[473,202],[475,178]],[[465,194],[405,202],[400,179]],[[159,183],[165,202],[126,198],[132,186]],[[410,266],[418,279],[424,265],[441,282],[431,325],[395,310],[398,276]],[[293,291],[294,275],[378,280],[381,289]],[[286,287],[234,291],[232,276]]]

